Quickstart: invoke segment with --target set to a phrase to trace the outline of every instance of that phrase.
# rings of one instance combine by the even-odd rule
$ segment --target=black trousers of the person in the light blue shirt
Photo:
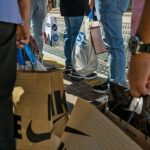
[[[16,26],[0,22],[0,149],[15,150],[11,94],[16,78]]]

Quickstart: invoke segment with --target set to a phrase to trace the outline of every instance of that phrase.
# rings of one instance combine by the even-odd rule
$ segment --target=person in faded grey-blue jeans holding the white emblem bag
[[[39,49],[40,60],[43,65],[48,69],[55,69],[55,65],[46,64],[43,60],[43,23],[46,17],[46,14],[52,10],[52,1],[51,0],[31,0],[30,1],[30,23],[32,25],[33,37]]]

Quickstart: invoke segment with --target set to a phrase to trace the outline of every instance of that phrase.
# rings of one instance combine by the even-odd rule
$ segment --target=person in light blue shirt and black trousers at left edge
[[[12,90],[17,47],[23,48],[21,43],[28,44],[30,37],[29,4],[30,0],[0,1],[0,150],[15,150]]]

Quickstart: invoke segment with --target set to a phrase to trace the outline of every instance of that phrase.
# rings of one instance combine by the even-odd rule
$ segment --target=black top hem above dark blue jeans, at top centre
[[[89,12],[88,0],[60,0],[62,16],[84,16]]]

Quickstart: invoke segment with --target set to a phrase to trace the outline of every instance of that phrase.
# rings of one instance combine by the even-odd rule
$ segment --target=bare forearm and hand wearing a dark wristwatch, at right
[[[149,8],[150,0],[145,0],[143,13],[136,31],[136,33],[140,35],[141,40],[146,44],[150,43]],[[133,96],[140,97],[150,93],[150,53],[141,53],[131,56],[128,78]]]

